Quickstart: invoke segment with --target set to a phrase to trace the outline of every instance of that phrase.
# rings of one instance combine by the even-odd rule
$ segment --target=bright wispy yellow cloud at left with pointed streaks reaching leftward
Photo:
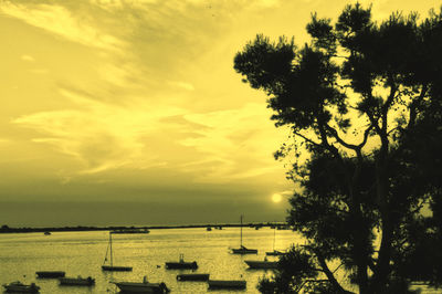
[[[159,129],[162,115],[172,111],[126,108],[108,105],[87,96],[62,90],[78,109],[40,112],[12,120],[35,129],[34,143],[46,144],[54,150],[72,156],[84,165],[78,174],[96,174],[124,166],[143,168],[151,165],[155,155],[144,154],[141,138]]]

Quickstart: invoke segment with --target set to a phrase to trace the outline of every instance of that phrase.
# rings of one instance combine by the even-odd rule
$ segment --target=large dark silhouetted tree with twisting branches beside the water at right
[[[315,269],[327,283],[313,290],[345,293],[333,261],[361,294],[404,293],[410,279],[439,285],[442,271],[409,260],[422,258],[425,239],[442,244],[441,165],[432,160],[442,147],[442,10],[378,24],[357,3],[334,25],[313,14],[306,29],[302,48],[257,35],[234,57],[243,81],[267,94],[275,125],[291,128],[293,141],[275,156],[293,156],[288,175],[303,188],[288,221],[308,242],[291,250],[307,254],[295,271],[305,275],[294,279],[283,259],[261,291],[296,292]]]

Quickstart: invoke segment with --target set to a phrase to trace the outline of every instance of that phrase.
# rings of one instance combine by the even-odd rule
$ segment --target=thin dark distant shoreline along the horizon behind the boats
[[[162,229],[194,229],[194,228],[239,228],[240,223],[213,223],[213,224],[180,224],[180,225],[145,225],[145,227],[48,227],[48,228],[9,228],[8,225],[2,225],[0,228],[0,233],[33,233],[33,232],[83,232],[83,231],[118,231],[118,230],[162,230]],[[285,222],[266,222],[266,223],[243,223],[242,227],[250,228],[276,228],[276,229],[288,229]]]

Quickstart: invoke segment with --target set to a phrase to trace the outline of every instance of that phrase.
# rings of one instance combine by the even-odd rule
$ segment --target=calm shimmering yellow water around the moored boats
[[[275,249],[283,250],[297,239],[292,231],[276,230]],[[240,229],[206,231],[206,229],[150,230],[149,234],[114,234],[114,265],[133,266],[133,272],[102,272],[108,232],[54,232],[0,234],[0,284],[20,280],[35,282],[41,293],[118,293],[110,281],[165,282],[172,293],[206,293],[204,282],[177,282],[179,273],[190,270],[166,270],[165,262],[197,261],[194,273],[210,273],[213,280],[246,280],[242,293],[257,293],[256,283],[264,271],[248,270],[244,260],[263,260],[273,250],[274,230],[243,229],[243,244],[259,250],[259,254],[236,255],[229,248],[238,248]],[[158,267],[159,265],[159,267]],[[93,287],[59,286],[56,280],[36,279],[36,271],[65,271],[66,276],[95,277]],[[269,273],[267,273],[269,274]],[[212,292],[212,291],[211,291]],[[212,293],[232,293],[213,291]]]

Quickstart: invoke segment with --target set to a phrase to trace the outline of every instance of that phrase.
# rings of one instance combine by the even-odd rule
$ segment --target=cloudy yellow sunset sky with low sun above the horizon
[[[360,1],[367,7],[370,1]],[[375,19],[440,1],[372,1]],[[344,0],[0,0],[0,224],[283,221],[288,137],[233,57]]]

